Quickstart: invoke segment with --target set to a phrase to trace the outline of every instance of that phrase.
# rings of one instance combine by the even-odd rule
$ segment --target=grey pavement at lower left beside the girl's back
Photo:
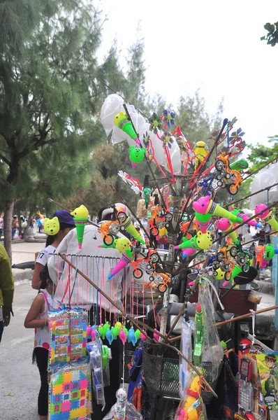
[[[0,417],[3,420],[37,420],[39,375],[31,365],[34,330],[24,328],[24,318],[36,291],[29,284],[15,288],[14,313],[0,344]]]

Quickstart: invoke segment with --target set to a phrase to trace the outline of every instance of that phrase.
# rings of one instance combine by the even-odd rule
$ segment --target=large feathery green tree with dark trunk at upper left
[[[97,77],[113,57],[98,66],[101,14],[92,3],[7,0],[0,9],[0,182],[11,255],[15,200],[65,195],[84,172],[99,139]]]

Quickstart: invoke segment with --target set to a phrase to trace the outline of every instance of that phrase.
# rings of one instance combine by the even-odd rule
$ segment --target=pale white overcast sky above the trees
[[[151,96],[175,111],[181,94],[200,89],[209,113],[224,98],[224,118],[237,117],[247,143],[278,134],[278,45],[260,40],[265,23],[278,20],[277,0],[102,0],[101,9],[100,59],[115,37],[124,55],[140,22]]]

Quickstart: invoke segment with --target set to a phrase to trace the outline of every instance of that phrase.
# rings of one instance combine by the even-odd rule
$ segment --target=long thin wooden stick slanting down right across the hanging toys
[[[151,327],[149,327],[149,325],[143,323],[142,321],[136,320],[134,319],[132,316],[130,316],[129,314],[126,314],[126,312],[123,311],[123,309],[116,303],[114,302],[114,300],[112,300],[108,295],[106,295],[105,292],[103,292],[103,290],[101,290],[101,288],[99,288],[96,283],[94,283],[94,281],[92,281],[91,279],[89,279],[88,276],[86,276],[86,274],[84,274],[82,271],[80,271],[80,269],[78,269],[77,267],[75,267],[75,265],[68,260],[68,258],[66,258],[63,254],[59,253],[58,254],[59,257],[61,257],[65,262],[68,263],[68,265],[70,265],[73,269],[75,269],[75,271],[80,274],[80,276],[83,277],[83,279],[85,279],[86,281],[88,281],[88,283],[90,283],[96,290],[98,290],[99,293],[101,293],[101,295],[103,295],[103,297],[105,297],[105,299],[108,300],[108,302],[110,302],[113,306],[115,306],[118,311],[122,314],[122,316],[126,319],[128,319],[129,321],[131,321],[131,323],[133,323],[133,325],[136,325],[136,327],[142,332],[142,334],[145,335],[145,337],[147,337],[147,339],[151,340],[148,335],[146,334],[146,332],[144,330],[142,330],[142,328],[139,327],[139,325],[142,325],[143,328],[145,328],[146,330],[149,330],[151,332],[155,332],[157,335],[159,335],[161,338],[165,339],[165,337],[163,335],[160,334],[160,332],[153,330]],[[165,344],[165,343],[157,343],[157,344],[162,344],[162,345],[166,345],[168,347],[170,347],[171,349],[174,349],[175,351],[177,351],[177,353],[186,361],[186,363],[189,364],[189,366],[191,367],[191,369],[193,369],[196,374],[198,374],[198,376],[200,377],[200,379],[203,381],[203,383],[205,384],[205,386],[207,386],[207,388],[210,389],[210,391],[213,393],[215,398],[217,397],[217,394],[214,392],[214,390],[212,389],[212,387],[210,386],[210,384],[206,381],[206,379],[203,377],[203,375],[201,374],[201,372],[197,369],[196,366],[194,366],[190,360],[188,360],[188,358],[186,358],[186,356],[184,356],[184,354],[178,350],[175,349],[175,347],[170,346],[169,344]]]

